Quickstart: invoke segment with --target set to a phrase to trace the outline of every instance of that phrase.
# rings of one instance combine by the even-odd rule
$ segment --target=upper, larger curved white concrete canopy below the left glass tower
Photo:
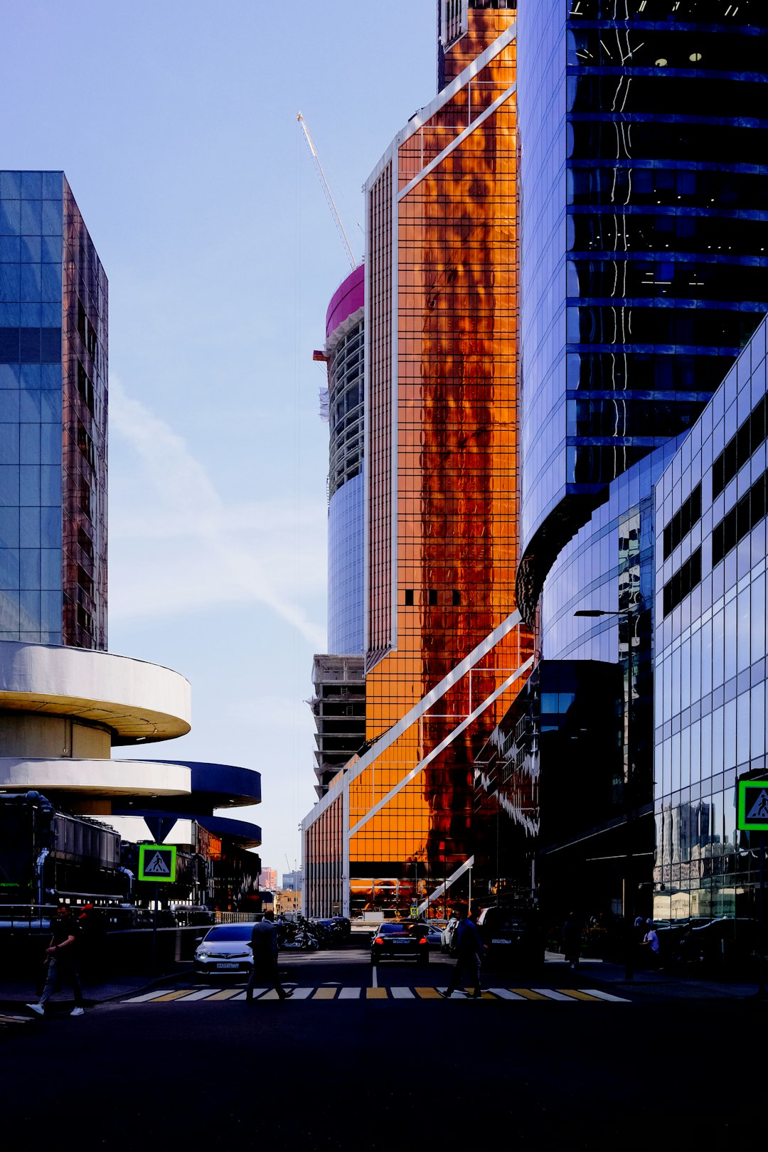
[[[106,725],[113,744],[190,730],[189,681],[170,668],[111,652],[0,643],[0,708]]]

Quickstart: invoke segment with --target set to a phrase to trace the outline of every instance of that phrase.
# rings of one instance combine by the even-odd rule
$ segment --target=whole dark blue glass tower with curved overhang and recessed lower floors
[[[519,7],[518,602],[543,661],[624,680],[608,813],[587,751],[549,839],[540,760],[542,895],[588,873],[585,911],[651,911],[653,486],[768,308],[767,30],[720,0]]]

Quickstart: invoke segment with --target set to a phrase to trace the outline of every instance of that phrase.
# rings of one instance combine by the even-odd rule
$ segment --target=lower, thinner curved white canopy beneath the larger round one
[[[0,789],[69,791],[99,796],[188,796],[191,772],[161,760],[0,758]]]

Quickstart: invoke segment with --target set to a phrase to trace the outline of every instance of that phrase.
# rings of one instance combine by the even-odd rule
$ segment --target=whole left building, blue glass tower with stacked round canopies
[[[260,829],[213,813],[258,803],[258,772],[112,758],[188,733],[190,687],[106,651],[107,399],[107,279],[67,179],[0,172],[0,790],[239,852]]]

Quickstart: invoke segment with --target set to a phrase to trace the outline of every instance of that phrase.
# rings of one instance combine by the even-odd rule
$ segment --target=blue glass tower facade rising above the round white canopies
[[[0,172],[0,639],[107,646],[107,280],[61,172]]]

